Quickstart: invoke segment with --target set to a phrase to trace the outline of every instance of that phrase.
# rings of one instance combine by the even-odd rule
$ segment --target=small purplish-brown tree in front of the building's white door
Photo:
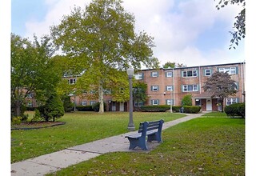
[[[220,99],[222,104],[222,112],[224,98],[228,98],[230,95],[235,95],[237,92],[237,86],[235,81],[231,79],[230,74],[222,72],[215,72],[212,74],[202,88],[205,90],[205,92],[211,94],[211,98]]]

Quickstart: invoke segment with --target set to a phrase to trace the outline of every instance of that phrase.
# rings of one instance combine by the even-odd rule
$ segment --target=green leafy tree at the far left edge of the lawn
[[[38,102],[46,101],[50,92],[61,79],[54,70],[50,57],[54,50],[50,38],[42,37],[41,42],[34,36],[34,42],[11,34],[11,109],[12,115],[22,116],[22,106],[29,94]]]

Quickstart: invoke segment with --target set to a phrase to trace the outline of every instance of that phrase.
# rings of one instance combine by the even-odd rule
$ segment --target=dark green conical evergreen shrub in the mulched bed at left
[[[50,119],[61,118],[64,115],[64,107],[62,100],[57,94],[52,94],[46,101],[46,105],[38,107],[42,118],[48,122]]]

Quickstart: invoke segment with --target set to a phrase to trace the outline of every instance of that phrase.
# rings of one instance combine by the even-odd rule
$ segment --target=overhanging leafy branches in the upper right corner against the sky
[[[216,1],[216,0],[215,0]],[[234,48],[238,46],[238,42],[241,41],[242,38],[246,37],[246,0],[218,0],[218,5],[216,6],[218,10],[227,6],[227,5],[240,5],[242,4],[242,10],[235,17],[236,21],[234,22],[234,31],[230,31],[232,35],[232,39],[230,40],[230,48]]]

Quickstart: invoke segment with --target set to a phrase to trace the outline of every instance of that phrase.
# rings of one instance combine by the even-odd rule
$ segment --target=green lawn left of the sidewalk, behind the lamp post
[[[30,113],[30,118],[33,114]],[[183,114],[134,113],[134,125],[139,122],[164,119],[165,122],[184,117]],[[67,113],[59,121],[66,125],[38,130],[11,131],[11,162],[50,154],[101,138],[127,132],[129,113],[76,112]]]

